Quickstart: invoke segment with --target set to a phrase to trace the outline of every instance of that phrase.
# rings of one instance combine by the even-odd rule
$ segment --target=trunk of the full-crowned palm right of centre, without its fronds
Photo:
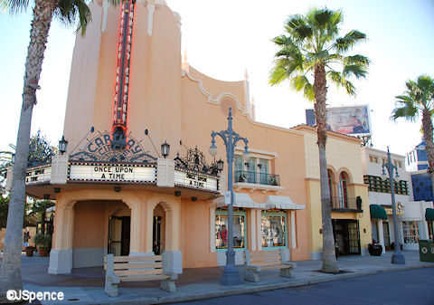
[[[319,177],[321,186],[321,216],[323,222],[323,266],[322,272],[339,272],[335,257],[335,238],[333,236],[332,217],[330,210],[330,188],[327,176],[327,158],[325,157],[325,143],[327,140],[326,107],[327,87],[325,81],[324,64],[317,64],[315,67],[315,117],[316,134],[318,136],[319,150]]]

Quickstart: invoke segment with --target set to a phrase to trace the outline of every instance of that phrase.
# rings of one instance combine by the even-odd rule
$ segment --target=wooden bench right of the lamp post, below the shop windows
[[[294,278],[295,262],[286,260],[285,250],[249,252],[244,250],[244,281],[259,281],[259,272],[280,269],[280,276]]]

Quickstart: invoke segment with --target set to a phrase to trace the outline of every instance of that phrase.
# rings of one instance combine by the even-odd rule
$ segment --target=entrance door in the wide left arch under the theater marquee
[[[108,253],[115,255],[129,254],[130,216],[111,216],[109,218]]]

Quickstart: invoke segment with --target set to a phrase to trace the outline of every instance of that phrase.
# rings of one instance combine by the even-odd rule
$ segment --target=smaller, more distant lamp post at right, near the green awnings
[[[396,220],[395,183],[393,180],[393,169],[395,169],[396,171],[396,177],[399,177],[399,175],[398,175],[398,168],[396,168],[392,164],[391,152],[389,151],[389,147],[387,147],[387,163],[382,164],[383,176],[386,175],[384,168],[387,168],[387,171],[389,172],[389,180],[391,183],[391,194],[392,194],[393,231],[395,233],[395,246],[394,246],[394,253],[392,254],[392,263],[405,264],[405,258],[404,255],[402,255],[401,253],[401,243],[399,241],[398,221]]]

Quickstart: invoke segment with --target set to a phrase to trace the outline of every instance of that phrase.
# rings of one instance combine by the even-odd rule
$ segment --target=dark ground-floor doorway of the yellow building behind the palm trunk
[[[332,224],[339,255],[360,255],[359,222],[352,219],[333,219]]]

